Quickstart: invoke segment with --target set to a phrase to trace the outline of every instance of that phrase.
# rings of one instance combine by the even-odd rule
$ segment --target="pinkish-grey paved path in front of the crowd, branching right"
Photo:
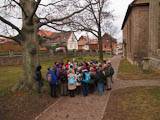
[[[120,56],[112,58],[115,68],[113,90],[132,86],[160,86],[160,81],[123,81],[116,78]],[[107,107],[111,92],[105,91],[102,96],[95,92],[87,97],[63,97],[36,117],[37,120],[101,120]]]

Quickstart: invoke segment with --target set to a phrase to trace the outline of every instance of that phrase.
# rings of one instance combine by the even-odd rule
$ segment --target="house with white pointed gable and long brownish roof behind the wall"
[[[39,34],[46,39],[43,45],[64,45],[67,47],[67,50],[78,50],[77,38],[73,32],[51,32],[41,30]]]

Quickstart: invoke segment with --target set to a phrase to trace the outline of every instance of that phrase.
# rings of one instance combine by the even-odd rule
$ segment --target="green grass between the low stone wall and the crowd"
[[[98,56],[95,56],[98,59]],[[104,58],[110,58],[112,56],[104,56]],[[93,58],[93,56],[80,56],[77,57],[78,62],[81,62],[83,59],[86,59],[87,61],[90,61]],[[67,60],[72,61],[73,58],[65,58],[63,59],[64,62]],[[57,61],[60,61],[59,59]],[[47,73],[47,68],[54,65],[55,61],[45,61],[41,62],[42,65],[42,74],[45,78],[45,75]],[[4,91],[16,83],[18,83],[21,80],[22,76],[22,66],[0,66],[0,92]]]

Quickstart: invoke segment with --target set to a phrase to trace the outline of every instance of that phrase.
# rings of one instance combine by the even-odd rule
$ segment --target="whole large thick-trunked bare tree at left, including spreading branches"
[[[41,27],[61,26],[66,19],[82,12],[78,0],[4,0],[0,5],[0,37],[18,42],[23,52],[23,75],[17,88],[34,90],[36,81],[32,75],[40,64],[38,31]],[[65,23],[66,24],[66,23]],[[64,25],[64,23],[63,23]],[[54,28],[54,27],[52,27]],[[55,28],[56,29],[56,28]]]

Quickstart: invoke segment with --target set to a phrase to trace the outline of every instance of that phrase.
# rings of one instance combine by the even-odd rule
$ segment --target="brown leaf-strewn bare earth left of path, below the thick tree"
[[[32,120],[56,100],[46,92],[8,93],[0,97],[0,120]]]

